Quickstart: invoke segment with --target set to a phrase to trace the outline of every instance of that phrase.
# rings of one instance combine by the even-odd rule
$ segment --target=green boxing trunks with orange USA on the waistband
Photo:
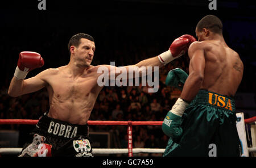
[[[200,90],[183,114],[183,134],[169,139],[163,156],[241,156],[236,121],[234,99]]]

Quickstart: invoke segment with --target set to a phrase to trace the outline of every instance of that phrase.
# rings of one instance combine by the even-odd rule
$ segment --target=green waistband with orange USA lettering
[[[224,110],[236,111],[235,101],[229,96],[217,94],[208,90],[200,90],[192,104],[208,104]]]

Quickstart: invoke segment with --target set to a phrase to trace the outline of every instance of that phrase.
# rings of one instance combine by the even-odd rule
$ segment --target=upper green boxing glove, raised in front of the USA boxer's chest
[[[173,86],[177,89],[182,90],[187,78],[188,74],[185,73],[184,70],[180,68],[175,68],[168,72],[166,77],[166,85]]]

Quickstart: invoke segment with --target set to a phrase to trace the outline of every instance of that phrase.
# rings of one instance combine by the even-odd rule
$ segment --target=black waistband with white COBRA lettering
[[[45,112],[36,124],[36,129],[39,131],[47,133],[48,135],[63,138],[73,138],[79,135],[88,136],[88,124],[70,124],[48,117],[47,114],[48,112]]]

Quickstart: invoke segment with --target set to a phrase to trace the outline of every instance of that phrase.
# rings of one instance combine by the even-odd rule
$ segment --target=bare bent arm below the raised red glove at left
[[[44,80],[47,71],[43,71],[36,75],[35,77],[31,77],[28,79],[16,79],[13,77],[11,79],[11,83],[9,86],[8,94],[13,97],[17,97],[20,95],[33,93],[47,86],[47,82]]]

